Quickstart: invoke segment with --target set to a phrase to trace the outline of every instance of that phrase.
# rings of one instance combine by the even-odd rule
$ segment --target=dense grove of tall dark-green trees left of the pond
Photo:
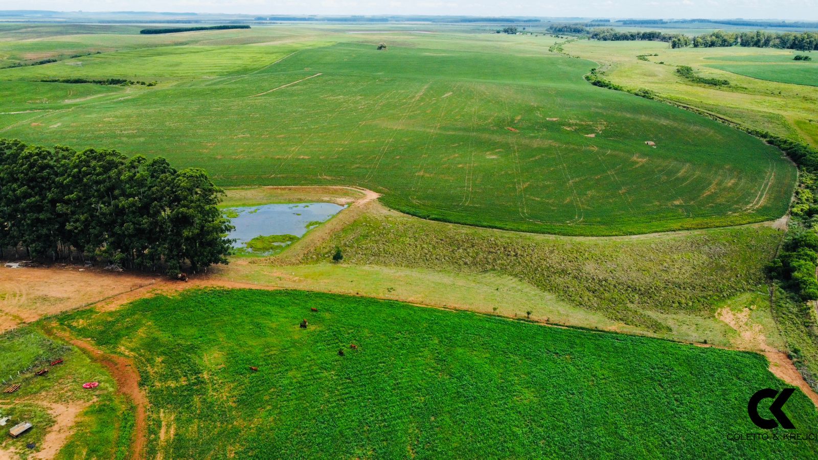
[[[79,252],[169,274],[226,264],[221,195],[204,170],[161,157],[0,139],[0,250],[23,246],[34,259]]]

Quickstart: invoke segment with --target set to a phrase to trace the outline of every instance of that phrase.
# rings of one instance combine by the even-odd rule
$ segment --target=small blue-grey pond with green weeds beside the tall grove
[[[335,203],[259,205],[224,210],[236,230],[237,254],[271,255],[298,241],[346,206]]]

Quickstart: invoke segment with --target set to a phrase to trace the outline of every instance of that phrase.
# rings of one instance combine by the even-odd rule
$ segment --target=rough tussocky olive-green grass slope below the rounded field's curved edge
[[[501,273],[614,322],[713,342],[724,336],[713,330],[715,305],[764,289],[762,269],[781,237],[779,230],[766,226],[620,238],[551,237],[373,212],[300,261],[329,262],[340,247],[345,264]],[[511,313],[524,312],[520,305]],[[537,311],[536,318],[578,323],[553,310]]]

